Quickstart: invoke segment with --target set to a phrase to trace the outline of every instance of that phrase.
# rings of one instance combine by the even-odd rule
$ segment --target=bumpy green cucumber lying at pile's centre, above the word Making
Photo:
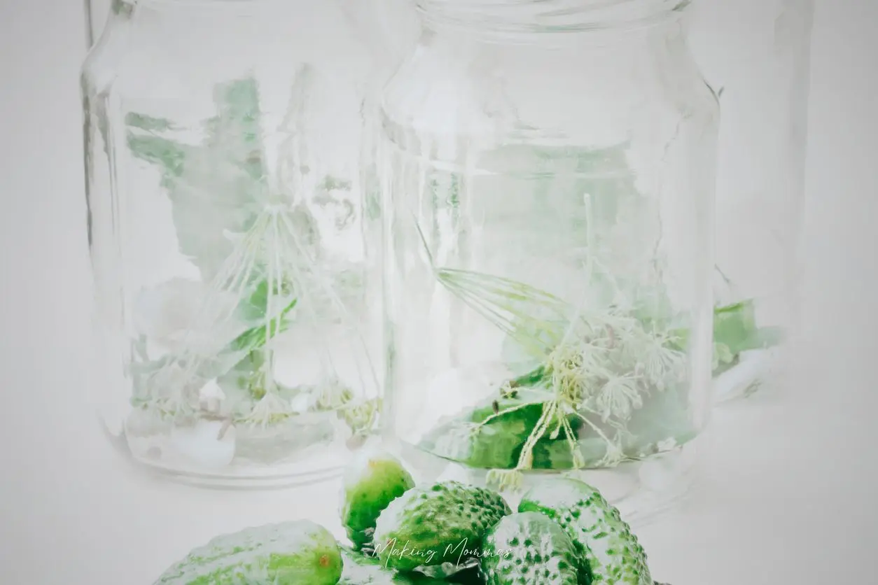
[[[476,556],[486,531],[511,513],[499,494],[460,482],[409,489],[378,517],[375,553],[387,567],[404,571],[460,565]]]

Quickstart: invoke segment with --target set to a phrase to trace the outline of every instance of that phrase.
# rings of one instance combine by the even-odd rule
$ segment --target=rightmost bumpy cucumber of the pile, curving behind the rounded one
[[[520,512],[545,514],[578,544],[595,585],[653,585],[646,553],[601,493],[585,482],[557,478],[530,489]]]

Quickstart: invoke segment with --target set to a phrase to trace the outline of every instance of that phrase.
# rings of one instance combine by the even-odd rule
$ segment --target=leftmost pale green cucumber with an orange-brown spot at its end
[[[342,553],[310,520],[246,528],[211,539],[169,567],[154,585],[335,585]]]

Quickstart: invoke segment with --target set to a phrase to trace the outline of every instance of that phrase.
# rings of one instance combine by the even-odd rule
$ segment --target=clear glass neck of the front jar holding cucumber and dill
[[[483,39],[558,39],[559,35],[621,32],[676,21],[691,1],[416,0],[416,5],[424,25],[434,31]]]

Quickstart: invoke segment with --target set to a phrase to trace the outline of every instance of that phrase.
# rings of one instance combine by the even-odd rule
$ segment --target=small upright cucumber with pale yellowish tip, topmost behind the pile
[[[414,488],[402,463],[378,449],[363,452],[345,471],[342,524],[356,550],[371,543],[378,514],[387,504]]]

